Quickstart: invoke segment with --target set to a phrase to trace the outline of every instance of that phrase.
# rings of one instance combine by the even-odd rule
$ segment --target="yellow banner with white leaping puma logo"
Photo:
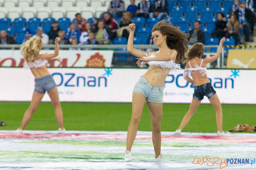
[[[228,50],[227,68],[230,69],[256,69],[256,50],[246,49]]]

